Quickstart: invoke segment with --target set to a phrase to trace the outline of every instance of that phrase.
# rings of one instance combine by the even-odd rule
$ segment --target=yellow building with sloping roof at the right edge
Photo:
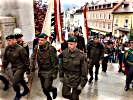
[[[133,3],[123,2],[113,12],[113,35],[128,35],[133,28]]]

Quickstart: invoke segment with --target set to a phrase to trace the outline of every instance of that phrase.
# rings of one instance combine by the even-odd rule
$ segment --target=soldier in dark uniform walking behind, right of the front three
[[[90,79],[89,83],[92,82],[93,80],[93,66],[95,65],[95,81],[98,80],[98,72],[99,72],[99,61],[101,58],[103,58],[104,54],[104,47],[100,43],[98,37],[94,37],[94,41],[88,44],[88,52],[87,56],[89,58],[89,74],[90,74]]]

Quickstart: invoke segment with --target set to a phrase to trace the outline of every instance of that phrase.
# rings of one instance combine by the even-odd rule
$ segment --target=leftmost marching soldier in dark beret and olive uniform
[[[20,100],[25,96],[29,89],[24,81],[24,73],[29,68],[29,57],[25,49],[17,44],[14,35],[6,37],[8,46],[5,49],[3,56],[3,68],[6,69],[8,64],[11,65],[13,71],[13,89],[16,92],[14,100]],[[24,91],[20,93],[20,85],[23,86]]]

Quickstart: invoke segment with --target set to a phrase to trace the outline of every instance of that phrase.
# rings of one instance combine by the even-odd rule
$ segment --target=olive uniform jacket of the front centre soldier
[[[87,59],[85,55],[76,49],[71,53],[68,49],[65,49],[60,55],[61,65],[60,65],[60,78],[64,85],[77,88],[85,86],[87,82]]]

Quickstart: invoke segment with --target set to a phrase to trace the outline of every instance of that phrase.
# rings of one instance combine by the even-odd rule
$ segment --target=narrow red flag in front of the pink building
[[[83,7],[83,14],[84,14],[84,28],[85,28],[85,32],[84,32],[84,38],[85,38],[85,43],[87,43],[88,40],[88,35],[89,35],[89,31],[88,31],[88,22],[87,22],[87,8],[86,5]]]

